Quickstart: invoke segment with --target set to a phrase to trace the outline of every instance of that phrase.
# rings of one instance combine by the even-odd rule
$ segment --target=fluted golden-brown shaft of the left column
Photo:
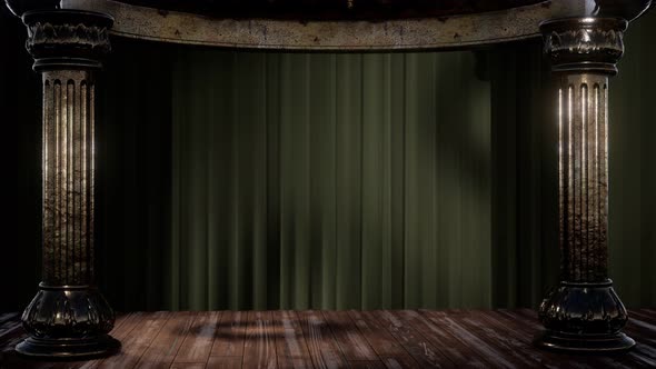
[[[93,283],[95,82],[43,72],[43,283]]]

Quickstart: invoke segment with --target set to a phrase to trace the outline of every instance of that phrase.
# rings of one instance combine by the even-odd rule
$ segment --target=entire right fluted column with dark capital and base
[[[628,317],[608,279],[608,77],[627,22],[569,18],[540,29],[558,80],[560,286],[539,307],[544,348],[627,350]]]

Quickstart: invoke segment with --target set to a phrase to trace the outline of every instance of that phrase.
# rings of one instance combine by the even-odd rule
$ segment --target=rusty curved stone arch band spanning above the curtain
[[[306,51],[408,51],[458,49],[539,37],[554,14],[590,12],[571,1],[426,18],[284,19],[219,18],[111,0],[64,0],[62,7],[111,14],[112,33],[162,42]]]

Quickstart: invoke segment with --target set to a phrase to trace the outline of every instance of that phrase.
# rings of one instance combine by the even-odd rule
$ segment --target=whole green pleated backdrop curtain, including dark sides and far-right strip
[[[610,267],[629,307],[656,303],[655,17],[632,24],[610,92]],[[98,245],[117,309],[535,307],[557,282],[556,109],[538,40],[115,49]]]

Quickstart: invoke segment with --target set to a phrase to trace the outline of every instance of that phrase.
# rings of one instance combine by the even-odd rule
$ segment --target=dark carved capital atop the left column
[[[109,29],[113,19],[103,13],[78,10],[26,12],[26,48],[34,58],[34,70],[101,68],[111,50]]]

